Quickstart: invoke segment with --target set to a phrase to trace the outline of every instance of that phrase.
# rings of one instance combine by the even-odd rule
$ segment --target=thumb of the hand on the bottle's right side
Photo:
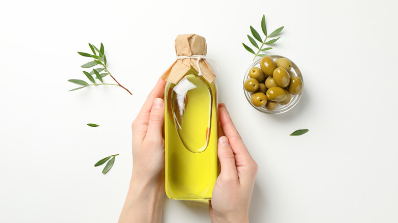
[[[234,152],[226,136],[218,138],[217,155],[221,165],[220,177],[223,179],[238,180]]]

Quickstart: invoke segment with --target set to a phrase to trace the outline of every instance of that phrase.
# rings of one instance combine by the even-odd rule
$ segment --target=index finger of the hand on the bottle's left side
[[[148,124],[149,121],[148,118],[151,113],[151,108],[154,103],[154,100],[155,98],[163,98],[165,86],[166,86],[166,81],[163,80],[162,78],[159,78],[154,89],[152,89],[151,93],[146,98],[140,112],[137,115],[137,119],[140,120],[140,123],[146,125]]]

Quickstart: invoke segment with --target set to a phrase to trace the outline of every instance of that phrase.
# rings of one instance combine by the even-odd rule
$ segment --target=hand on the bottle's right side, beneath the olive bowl
[[[226,136],[218,139],[221,172],[209,201],[211,222],[248,222],[248,209],[257,163],[243,144],[225,104],[219,106],[219,119]]]

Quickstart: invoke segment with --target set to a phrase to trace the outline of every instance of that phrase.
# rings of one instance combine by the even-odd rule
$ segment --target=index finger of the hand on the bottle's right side
[[[224,105],[225,106],[225,105]],[[225,107],[221,107],[220,109],[220,124],[222,130],[225,135],[229,138],[229,142],[231,144],[232,150],[235,154],[242,155],[244,157],[251,157],[250,153],[247,151],[246,146],[244,145],[242,138],[240,137],[238,131],[235,128],[234,123],[231,120],[228,111]]]

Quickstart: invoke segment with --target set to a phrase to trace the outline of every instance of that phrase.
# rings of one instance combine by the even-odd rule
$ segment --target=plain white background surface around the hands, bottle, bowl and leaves
[[[128,189],[131,122],[196,33],[214,59],[219,100],[259,165],[251,222],[398,222],[396,1],[7,1],[0,8],[2,222],[116,222]],[[269,53],[301,69],[305,90],[282,115],[247,103],[249,26],[284,25]],[[133,92],[78,87],[77,51],[105,45]],[[215,66],[211,64],[215,69]],[[216,70],[216,69],[215,69]],[[106,82],[112,82],[110,77]],[[101,127],[91,128],[86,123]],[[289,136],[308,128],[302,136]],[[119,153],[103,175],[93,164]],[[206,204],[165,199],[163,222],[209,222]]]

